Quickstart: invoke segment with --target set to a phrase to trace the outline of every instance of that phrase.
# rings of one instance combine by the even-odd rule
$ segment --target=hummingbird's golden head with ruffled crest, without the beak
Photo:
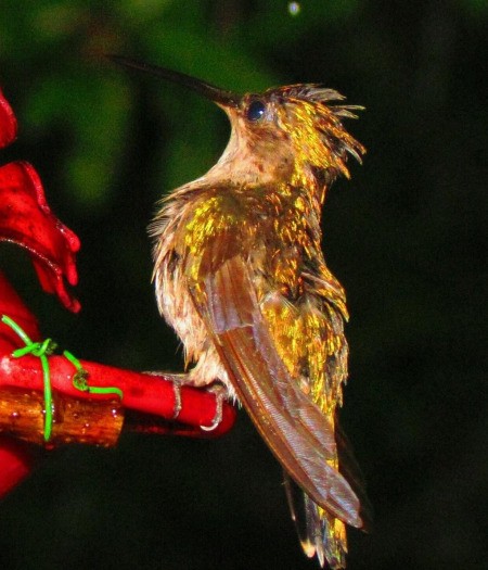
[[[342,119],[355,118],[354,111],[362,107],[329,104],[343,99],[318,85],[292,85],[234,97],[231,104],[218,102],[232,124],[221,162],[254,163],[258,172],[281,174],[294,185],[349,177],[347,156],[361,162],[364,148]]]

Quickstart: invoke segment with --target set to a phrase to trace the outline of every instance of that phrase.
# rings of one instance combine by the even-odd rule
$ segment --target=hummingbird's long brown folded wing
[[[281,465],[313,502],[361,528],[359,499],[330,465],[337,452],[333,426],[280,358],[247,262],[228,257],[190,291],[241,402]]]

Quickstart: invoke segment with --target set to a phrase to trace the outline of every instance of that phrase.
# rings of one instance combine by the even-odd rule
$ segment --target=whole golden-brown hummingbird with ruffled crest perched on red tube
[[[343,126],[362,107],[318,84],[237,94],[114,55],[206,97],[231,136],[205,175],[160,202],[151,226],[158,308],[184,347],[184,382],[218,380],[283,467],[301,546],[346,566],[346,524],[369,503],[337,408],[347,379],[345,292],[321,249],[322,204],[365,152]]]

